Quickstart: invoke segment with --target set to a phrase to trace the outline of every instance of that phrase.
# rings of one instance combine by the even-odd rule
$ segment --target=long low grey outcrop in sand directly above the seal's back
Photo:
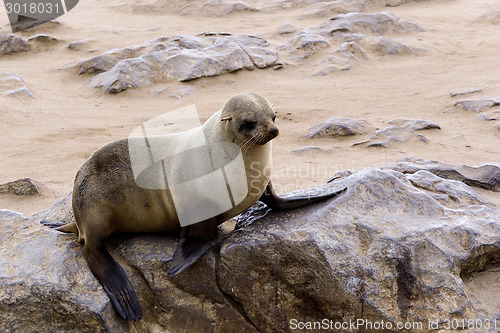
[[[165,79],[188,81],[240,69],[265,68],[277,61],[268,45],[260,35],[177,35],[113,49],[66,68],[77,68],[80,74],[100,73],[88,85],[102,87],[104,93],[119,93]]]

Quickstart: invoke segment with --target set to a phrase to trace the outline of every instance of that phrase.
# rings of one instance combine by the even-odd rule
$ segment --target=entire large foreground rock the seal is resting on
[[[472,300],[464,279],[500,258],[500,214],[464,182],[431,172],[344,172],[301,192],[347,186],[334,200],[288,212],[260,203],[240,217],[242,228],[175,278],[167,276],[174,237],[113,238],[108,247],[144,309],[136,323],[118,317],[75,237],[38,223],[71,221],[70,197],[31,219],[0,211],[0,325],[23,332],[284,332],[294,318],[364,318],[422,322],[419,331],[429,332],[429,321],[442,318],[495,319]]]

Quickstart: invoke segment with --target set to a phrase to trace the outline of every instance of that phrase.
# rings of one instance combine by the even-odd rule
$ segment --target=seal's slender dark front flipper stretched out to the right
[[[298,208],[313,202],[321,201],[327,198],[338,196],[346,191],[347,188],[341,190],[330,191],[318,195],[303,195],[291,198],[281,198],[274,192],[271,182],[267,184],[266,190],[260,197],[260,201],[271,207],[272,209],[284,210]]]

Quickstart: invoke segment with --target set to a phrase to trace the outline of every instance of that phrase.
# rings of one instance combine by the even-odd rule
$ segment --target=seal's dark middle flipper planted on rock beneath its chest
[[[217,236],[215,218],[182,228],[181,239],[170,262],[168,274],[175,276],[191,266],[217,242]]]

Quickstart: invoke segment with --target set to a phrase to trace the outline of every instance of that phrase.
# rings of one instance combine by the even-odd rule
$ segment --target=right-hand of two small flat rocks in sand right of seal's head
[[[389,122],[392,126],[377,130],[369,140],[357,142],[354,145],[366,144],[366,147],[388,148],[394,143],[403,143],[408,140],[416,140],[427,143],[425,136],[418,131],[441,129],[437,123],[429,120],[395,119]]]

